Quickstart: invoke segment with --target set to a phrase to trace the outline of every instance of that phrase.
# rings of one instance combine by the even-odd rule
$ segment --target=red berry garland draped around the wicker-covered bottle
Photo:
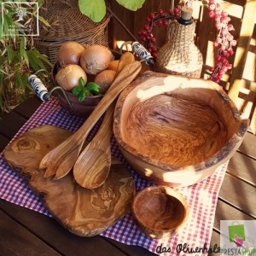
[[[187,2],[184,4],[187,4]],[[168,26],[171,20],[180,18],[181,9],[182,6],[177,5],[174,9],[168,9],[166,12],[163,9],[159,9],[157,12],[150,13],[146,20],[147,24],[143,26],[142,31],[138,32],[143,45],[154,59],[157,58],[157,48],[154,46],[157,39],[154,38],[152,33],[154,26]],[[234,54],[232,47],[235,47],[237,43],[230,34],[235,28],[229,24],[231,19],[228,13],[221,9],[218,0],[208,0],[208,9],[208,15],[214,20],[215,27],[218,30],[217,38],[213,43],[214,48],[218,49],[217,56],[215,66],[209,69],[212,72],[209,79],[219,83],[224,73],[232,68],[227,58]]]

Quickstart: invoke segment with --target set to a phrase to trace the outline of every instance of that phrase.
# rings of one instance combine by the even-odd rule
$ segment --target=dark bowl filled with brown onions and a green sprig
[[[85,46],[73,41],[62,44],[51,73],[53,84],[63,89],[55,92],[61,108],[79,116],[90,115],[113,82],[115,71],[110,64],[118,58],[118,53],[102,45]],[[81,87],[79,95],[75,94],[73,88],[79,86],[80,79],[84,86],[97,84],[98,91]]]

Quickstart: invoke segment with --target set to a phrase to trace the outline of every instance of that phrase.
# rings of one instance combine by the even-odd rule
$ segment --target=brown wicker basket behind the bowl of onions
[[[101,22],[93,22],[79,10],[78,0],[45,0],[40,15],[50,24],[41,26],[36,39],[38,50],[56,62],[58,49],[66,41],[77,41],[80,44],[102,44],[108,47],[109,15]]]

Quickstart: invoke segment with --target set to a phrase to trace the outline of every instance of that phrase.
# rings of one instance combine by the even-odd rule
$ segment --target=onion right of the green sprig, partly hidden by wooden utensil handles
[[[96,74],[94,82],[99,85],[99,90],[101,94],[105,94],[108,90],[110,84],[112,84],[115,78],[116,72],[113,70],[103,70],[101,73]]]

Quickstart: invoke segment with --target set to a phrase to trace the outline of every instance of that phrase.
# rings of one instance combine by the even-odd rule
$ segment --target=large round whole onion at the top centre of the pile
[[[80,58],[80,65],[88,74],[100,73],[113,61],[112,52],[99,44],[90,45],[84,50]]]

